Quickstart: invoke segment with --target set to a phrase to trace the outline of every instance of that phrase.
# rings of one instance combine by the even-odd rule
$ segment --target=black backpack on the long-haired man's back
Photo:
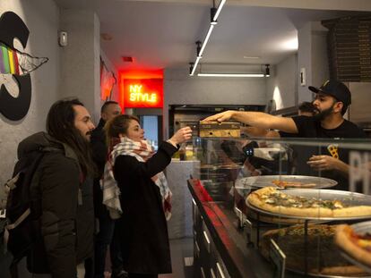
[[[34,265],[33,257],[46,256],[45,250],[34,249],[42,242],[39,218],[41,216],[41,194],[39,189],[39,164],[47,152],[61,149],[40,147],[23,156],[14,166],[13,178],[5,183],[9,192],[6,200],[5,240],[13,255],[11,276],[18,277],[17,265],[27,257],[28,268],[33,273],[48,273],[47,264]]]

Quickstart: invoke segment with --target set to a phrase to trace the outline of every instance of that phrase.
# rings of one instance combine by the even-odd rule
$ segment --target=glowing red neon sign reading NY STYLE
[[[162,108],[162,79],[124,80],[124,106]]]

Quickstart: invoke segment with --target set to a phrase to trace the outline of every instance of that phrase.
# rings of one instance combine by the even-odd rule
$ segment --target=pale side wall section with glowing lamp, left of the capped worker
[[[274,68],[272,67],[271,78],[267,80],[267,101],[274,99],[277,110],[297,105],[297,69],[297,54],[290,55]]]

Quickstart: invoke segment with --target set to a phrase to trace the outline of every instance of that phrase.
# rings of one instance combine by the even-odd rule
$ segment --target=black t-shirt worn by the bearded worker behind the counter
[[[358,128],[353,122],[344,120],[340,126],[332,130],[326,130],[321,126],[321,122],[316,121],[314,117],[297,116],[292,118],[298,128],[298,133],[289,134],[289,137],[297,138],[318,138],[318,139],[365,139],[367,135],[364,131]],[[285,137],[285,133],[282,134]],[[323,171],[318,173],[306,162],[311,156],[332,156],[333,147],[337,148],[337,154],[342,162],[349,163],[349,149],[341,149],[337,147],[336,140],[326,147],[306,147],[295,146],[294,151],[297,153],[297,174],[323,176],[335,181],[338,181],[338,186],[335,189],[348,190],[348,179],[341,176],[336,171]]]

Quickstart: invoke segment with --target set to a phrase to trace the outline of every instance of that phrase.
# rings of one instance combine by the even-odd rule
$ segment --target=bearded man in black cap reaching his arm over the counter
[[[351,102],[349,89],[343,83],[338,80],[327,80],[320,88],[309,89],[316,94],[313,104],[317,112],[313,117],[286,118],[262,112],[229,110],[207,117],[203,122],[225,122],[233,119],[264,130],[295,133],[298,138],[366,138],[366,134],[356,124],[343,118]],[[348,173],[349,167],[343,162],[348,161],[346,152],[339,154],[336,146],[329,146],[327,152],[321,153],[325,155],[311,156],[307,164],[315,170]]]

